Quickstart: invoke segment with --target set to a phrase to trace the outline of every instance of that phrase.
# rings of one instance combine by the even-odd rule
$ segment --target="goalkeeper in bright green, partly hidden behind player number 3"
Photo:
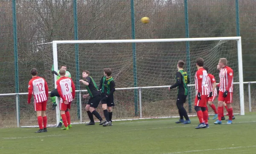
[[[70,72],[67,71],[67,66],[61,65],[61,68],[63,68],[63,69],[66,70],[65,77],[70,77],[70,78],[71,78]],[[61,69],[61,68],[60,68],[60,69]],[[59,71],[60,71],[60,70],[58,70],[57,72],[54,71],[54,66],[52,65],[52,73],[55,74],[55,75],[57,75],[57,80],[61,77],[60,74],[59,74]],[[57,106],[57,104],[56,104],[56,96],[57,96],[57,97],[60,97],[60,95],[58,94],[57,89],[54,89],[53,91],[51,91],[50,96],[51,96],[51,101],[52,101],[52,103],[53,103],[53,104],[52,104],[52,110],[55,110],[55,108],[56,108],[56,106]],[[60,123],[58,124],[57,127],[61,127],[62,123],[63,123],[63,121],[62,121],[62,118],[61,118],[61,121],[60,121]]]

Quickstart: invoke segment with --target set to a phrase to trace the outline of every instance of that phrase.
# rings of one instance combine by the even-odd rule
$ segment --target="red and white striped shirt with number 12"
[[[30,102],[32,94],[34,94],[34,103],[41,103],[48,100],[48,86],[43,77],[33,77],[29,81],[29,96],[28,102]]]

